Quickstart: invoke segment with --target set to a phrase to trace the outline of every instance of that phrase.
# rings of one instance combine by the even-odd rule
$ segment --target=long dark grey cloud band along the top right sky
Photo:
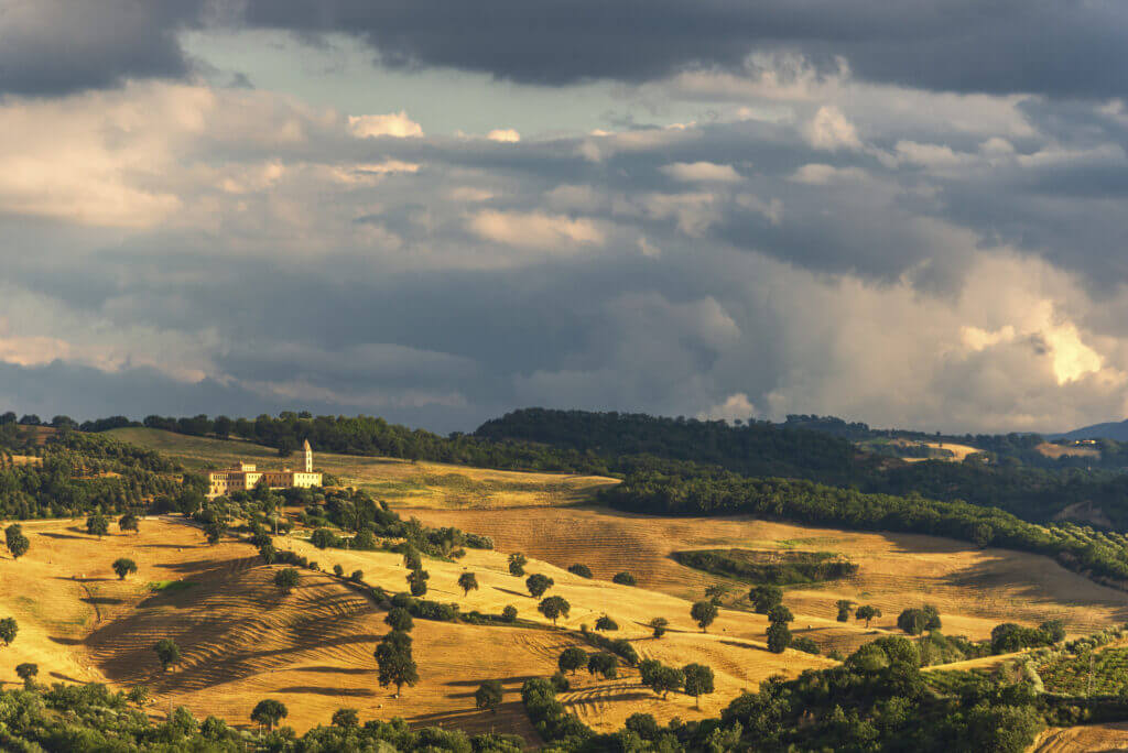
[[[827,70],[926,89],[1125,92],[1128,9],[1059,0],[250,0],[250,26],[344,32],[389,67],[450,67],[528,83],[641,82],[737,69],[797,48]]]

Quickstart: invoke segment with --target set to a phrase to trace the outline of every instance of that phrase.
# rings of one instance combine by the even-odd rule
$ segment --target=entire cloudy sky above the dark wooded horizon
[[[0,410],[1119,420],[1126,38],[1102,0],[0,0]]]

